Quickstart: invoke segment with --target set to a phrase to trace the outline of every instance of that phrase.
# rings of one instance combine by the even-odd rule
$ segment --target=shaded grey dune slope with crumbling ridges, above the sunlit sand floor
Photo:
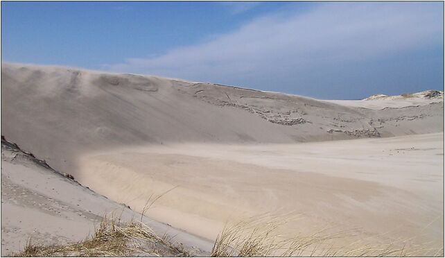
[[[444,130],[442,103],[367,110],[207,83],[2,64],[1,130],[76,174],[89,150],[166,142],[295,143]]]

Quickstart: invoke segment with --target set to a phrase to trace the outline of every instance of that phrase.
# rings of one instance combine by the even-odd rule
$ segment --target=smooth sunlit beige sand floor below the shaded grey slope
[[[305,144],[177,144],[79,160],[82,182],[213,239],[227,221],[300,214],[287,233],[360,229],[360,239],[443,242],[443,133]],[[384,233],[384,234],[383,234]]]

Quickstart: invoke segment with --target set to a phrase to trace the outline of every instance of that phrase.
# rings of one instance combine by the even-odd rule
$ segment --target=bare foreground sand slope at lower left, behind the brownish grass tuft
[[[10,150],[1,150],[1,256],[23,250],[26,242],[49,245],[86,239],[103,216],[140,221],[141,214],[105,198]],[[208,255],[212,243],[144,217],[159,236],[175,236],[186,250]]]

